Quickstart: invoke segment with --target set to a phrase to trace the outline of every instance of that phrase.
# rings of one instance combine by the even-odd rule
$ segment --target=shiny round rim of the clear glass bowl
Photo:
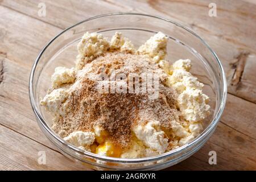
[[[223,86],[223,90],[221,90],[221,92],[222,92],[222,99],[221,99],[220,107],[218,108],[216,116],[212,119],[212,122],[210,122],[210,124],[203,131],[203,133],[201,133],[198,137],[193,139],[191,142],[185,144],[184,146],[176,148],[175,150],[171,150],[171,151],[165,152],[164,154],[160,154],[160,155],[156,155],[156,156],[150,156],[150,157],[146,157],[146,158],[138,158],[138,159],[123,159],[123,158],[113,158],[113,157],[109,157],[109,156],[102,156],[102,155],[94,154],[92,152],[83,151],[80,148],[77,148],[76,146],[73,146],[72,144],[70,144],[70,143],[66,142],[65,140],[63,140],[50,127],[48,127],[48,124],[44,121],[42,115],[40,114],[40,110],[37,107],[36,102],[35,102],[35,98],[34,98],[33,85],[34,85],[35,69],[36,69],[36,66],[38,65],[40,57],[43,55],[44,51],[46,51],[48,46],[52,42],[54,42],[55,39],[57,39],[60,35],[64,34],[64,32],[70,30],[71,28],[76,27],[79,24],[82,24],[84,22],[88,22],[89,20],[93,20],[93,19],[97,19],[97,18],[102,18],[102,17],[106,17],[106,16],[115,16],[115,15],[148,16],[148,17],[151,17],[151,18],[156,18],[156,19],[164,20],[165,22],[168,22],[168,23],[175,24],[176,26],[178,26],[180,28],[183,28],[185,31],[189,32],[190,34],[196,36],[196,38],[199,39],[201,41],[201,43],[203,43],[204,46],[209,49],[209,51],[212,53],[214,59],[217,61],[218,68],[221,71],[221,77],[223,79],[223,85],[222,85]],[[91,18],[85,19],[85,20],[83,20],[83,21],[81,21],[79,23],[73,24],[72,26],[70,26],[70,27],[66,28],[65,30],[61,31],[54,38],[52,38],[46,44],[46,46],[43,47],[43,49],[40,51],[39,55],[36,57],[36,60],[35,60],[34,64],[32,65],[32,69],[31,69],[31,73],[30,73],[30,80],[29,80],[28,90],[29,90],[30,103],[31,103],[31,106],[32,106],[32,110],[34,111],[34,113],[35,113],[35,115],[37,117],[37,120],[39,121],[38,123],[43,126],[43,128],[47,131],[47,133],[49,133],[58,142],[60,142],[61,144],[64,144],[70,150],[72,150],[74,152],[78,152],[80,155],[85,155],[86,157],[89,157],[89,158],[94,158],[94,159],[103,160],[105,162],[112,162],[112,163],[143,163],[143,162],[152,162],[154,160],[161,160],[161,159],[164,159],[166,157],[171,157],[171,156],[174,156],[177,153],[179,154],[180,152],[183,152],[187,148],[189,148],[189,147],[193,146],[194,144],[196,144],[197,142],[199,142],[199,140],[201,140],[204,137],[206,137],[210,133],[210,131],[212,131],[216,127],[216,125],[217,125],[218,121],[220,120],[220,117],[221,117],[221,115],[223,113],[223,110],[224,110],[224,107],[225,107],[225,103],[226,103],[226,97],[227,97],[226,77],[225,77],[224,68],[221,65],[221,61],[220,61],[220,59],[218,59],[216,53],[212,50],[212,48],[210,48],[209,45],[202,38],[200,38],[199,35],[197,35],[195,32],[190,30],[188,27],[185,27],[185,26],[183,26],[180,23],[176,23],[173,20],[162,18],[160,16],[154,16],[154,15],[149,15],[149,14],[141,14],[141,13],[110,13],[110,14],[97,15],[97,16],[93,16]],[[57,146],[57,147],[59,147],[59,146]],[[64,151],[67,152],[66,150],[64,150]],[[80,158],[77,158],[77,159],[80,159]],[[86,162],[86,160],[84,160],[84,159],[80,159],[80,160]]]

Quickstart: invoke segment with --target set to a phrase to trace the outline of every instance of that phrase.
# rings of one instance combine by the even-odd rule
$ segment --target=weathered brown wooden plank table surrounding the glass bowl
[[[38,14],[39,3],[46,16]],[[217,6],[210,17],[209,3]],[[57,151],[39,129],[28,76],[40,49],[64,28],[94,15],[139,12],[192,28],[216,51],[228,100],[216,132],[191,158],[168,169],[256,169],[256,1],[0,1],[0,169],[86,170]],[[46,165],[38,163],[45,151]],[[217,165],[208,163],[217,152]]]

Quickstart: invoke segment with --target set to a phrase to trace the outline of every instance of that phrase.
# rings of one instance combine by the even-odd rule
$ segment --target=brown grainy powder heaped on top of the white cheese
[[[85,65],[85,71],[77,78],[77,84],[70,89],[67,104],[69,112],[55,119],[53,130],[66,137],[73,131],[93,131],[94,125],[102,126],[109,139],[121,147],[131,140],[131,130],[137,123],[146,123],[151,119],[160,121],[162,127],[171,129],[175,120],[176,92],[164,85],[165,73],[150,58],[129,53],[108,53]],[[99,93],[98,79],[102,72],[157,74],[159,97],[151,100],[148,94],[135,93]],[[128,85],[127,81],[127,85]],[[75,86],[76,85],[76,86]]]

